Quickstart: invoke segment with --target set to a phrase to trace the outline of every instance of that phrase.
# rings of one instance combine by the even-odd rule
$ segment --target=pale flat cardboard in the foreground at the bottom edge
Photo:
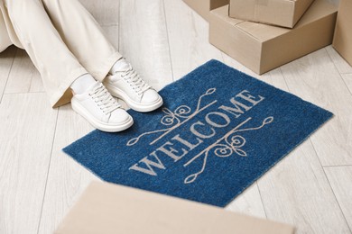
[[[95,182],[55,233],[291,234],[294,229],[198,202]]]

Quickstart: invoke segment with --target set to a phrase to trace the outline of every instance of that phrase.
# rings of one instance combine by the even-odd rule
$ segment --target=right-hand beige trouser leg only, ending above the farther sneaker
[[[79,63],[102,81],[122,58],[97,21],[78,0],[42,0],[51,22]]]

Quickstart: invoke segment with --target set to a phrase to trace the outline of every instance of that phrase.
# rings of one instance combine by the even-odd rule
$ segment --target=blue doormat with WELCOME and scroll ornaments
[[[217,60],[128,111],[134,126],[94,130],[63,150],[107,182],[225,206],[332,113]]]

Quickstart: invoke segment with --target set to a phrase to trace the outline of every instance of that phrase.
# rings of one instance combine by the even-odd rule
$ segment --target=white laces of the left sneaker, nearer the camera
[[[105,114],[114,112],[121,107],[121,105],[116,102],[115,98],[107,91],[107,88],[101,83],[94,88],[89,95]]]

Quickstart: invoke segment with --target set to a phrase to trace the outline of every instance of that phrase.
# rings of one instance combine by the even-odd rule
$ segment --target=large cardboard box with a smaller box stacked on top
[[[230,18],[227,10],[226,5],[211,11],[210,43],[263,74],[331,44],[338,9],[316,0],[292,30]]]

